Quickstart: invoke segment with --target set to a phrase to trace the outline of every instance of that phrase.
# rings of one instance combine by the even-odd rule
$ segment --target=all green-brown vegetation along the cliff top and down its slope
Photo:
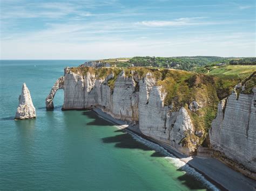
[[[122,70],[126,77],[133,77],[137,82],[147,73],[151,73],[152,77],[157,80],[156,85],[161,86],[162,91],[166,93],[164,105],[169,106],[171,111],[178,111],[180,107],[185,107],[194,129],[201,133],[201,136],[190,135],[181,141],[181,144],[190,147],[194,143],[197,145],[203,143],[211,128],[211,122],[217,114],[219,101],[230,95],[234,86],[252,74],[256,66],[214,66],[207,74],[152,67],[71,68],[72,72],[82,75],[90,72],[97,79],[105,79],[113,74],[113,77],[107,81],[112,90]],[[244,84],[244,93],[251,93],[252,87],[256,84],[255,75],[246,80]],[[201,108],[196,111],[188,109],[193,101],[197,101]]]

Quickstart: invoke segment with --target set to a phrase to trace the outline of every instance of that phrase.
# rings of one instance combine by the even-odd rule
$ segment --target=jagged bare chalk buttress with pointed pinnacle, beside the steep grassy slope
[[[190,149],[184,148],[181,140],[194,133],[193,125],[185,108],[171,111],[171,106],[164,106],[165,92],[155,86],[156,80],[146,75],[140,80],[139,91],[139,129],[148,137],[170,145],[174,150],[190,154],[195,151],[196,144]]]

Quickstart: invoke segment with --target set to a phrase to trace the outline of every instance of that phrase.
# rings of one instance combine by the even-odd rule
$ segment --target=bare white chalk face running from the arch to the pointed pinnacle
[[[46,98],[46,107],[51,105],[49,103],[62,84],[58,81],[61,81],[64,82],[61,87],[64,88],[64,110],[96,106],[116,119],[139,123],[139,129],[145,136],[170,145],[174,150],[185,154],[194,152],[196,144],[190,149],[181,144],[183,138],[194,133],[186,109],[171,112],[170,106],[164,106],[166,93],[156,86],[156,79],[151,73],[140,79],[135,71],[128,76],[122,71],[111,90],[107,82],[113,77],[112,73],[105,79],[99,79],[90,72],[82,76],[65,68],[64,79],[57,80]]]

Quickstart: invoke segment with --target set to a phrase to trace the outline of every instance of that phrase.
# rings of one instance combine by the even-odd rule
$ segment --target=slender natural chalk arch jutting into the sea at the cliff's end
[[[58,78],[53,87],[51,88],[50,94],[45,99],[46,109],[53,109],[53,98],[58,89],[64,89],[64,76]]]

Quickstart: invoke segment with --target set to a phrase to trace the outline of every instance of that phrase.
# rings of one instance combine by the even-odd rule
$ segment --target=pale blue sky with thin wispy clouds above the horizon
[[[254,0],[0,2],[0,59],[256,56]]]

